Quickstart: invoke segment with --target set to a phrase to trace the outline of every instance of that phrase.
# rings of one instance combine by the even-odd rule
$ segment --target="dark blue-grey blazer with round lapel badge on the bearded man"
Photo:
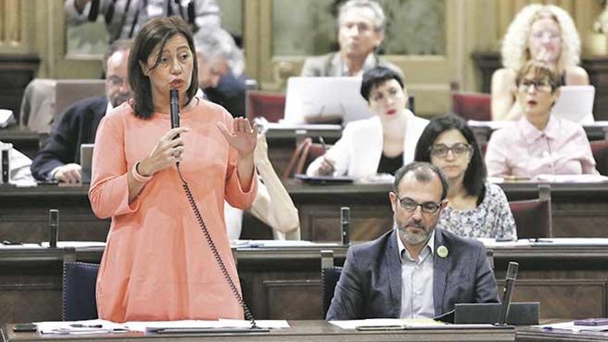
[[[325,319],[399,318],[401,262],[395,234],[392,229],[348,250]],[[441,245],[448,248],[446,258],[437,256]],[[433,301],[435,316],[453,310],[455,303],[498,301],[494,274],[482,243],[435,229]]]

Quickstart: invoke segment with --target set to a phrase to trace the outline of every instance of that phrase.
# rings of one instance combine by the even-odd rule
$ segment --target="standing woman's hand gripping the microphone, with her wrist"
[[[176,137],[178,134],[190,131],[186,127],[171,129],[156,143],[150,154],[140,162],[137,172],[143,176],[153,175],[158,171],[167,169],[175,162],[180,162],[184,153],[184,140]]]

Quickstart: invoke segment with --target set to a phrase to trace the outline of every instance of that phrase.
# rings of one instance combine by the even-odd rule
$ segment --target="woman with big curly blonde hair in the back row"
[[[519,120],[522,107],[515,95],[517,70],[531,59],[547,62],[561,84],[589,84],[589,75],[578,66],[580,39],[568,12],[553,5],[532,4],[520,10],[502,41],[502,65],[492,76],[492,119]]]

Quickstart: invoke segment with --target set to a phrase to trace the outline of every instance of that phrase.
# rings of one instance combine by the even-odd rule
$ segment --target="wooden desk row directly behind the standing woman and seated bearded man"
[[[243,296],[257,319],[321,319],[321,250],[341,246],[238,249]],[[540,301],[541,319],[608,315],[608,246],[495,247],[495,274],[504,286],[509,261],[520,263],[513,301]],[[61,319],[64,260],[99,263],[103,249],[0,247],[0,322]]]

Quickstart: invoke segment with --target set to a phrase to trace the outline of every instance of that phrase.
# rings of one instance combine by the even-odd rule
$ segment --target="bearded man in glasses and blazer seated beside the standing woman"
[[[439,316],[455,303],[498,301],[484,246],[436,227],[448,204],[437,167],[412,162],[395,174],[395,228],[351,247],[326,319]]]

